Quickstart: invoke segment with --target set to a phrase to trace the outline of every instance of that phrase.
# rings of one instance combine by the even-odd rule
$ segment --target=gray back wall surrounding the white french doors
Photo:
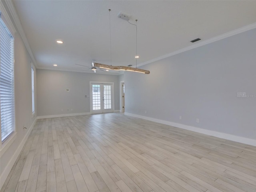
[[[90,81],[114,82],[114,109],[119,110],[117,75],[38,69],[38,116],[90,112],[90,98],[85,98],[85,95],[90,96]],[[70,92],[66,92],[66,88]]]

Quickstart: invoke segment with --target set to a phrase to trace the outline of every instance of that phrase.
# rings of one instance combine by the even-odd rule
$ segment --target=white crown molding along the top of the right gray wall
[[[236,35],[236,34],[240,34],[242,32],[246,32],[248,30],[251,30],[251,29],[254,29],[256,28],[256,23],[252,23],[250,25],[246,25],[246,26],[243,26],[241,28],[238,28],[238,29],[235,29],[235,30],[232,30],[230,32],[227,32],[227,33],[224,33],[224,34],[221,34],[221,35],[218,35],[216,37],[213,37],[213,38],[210,38],[208,40],[204,40],[202,42],[198,42],[194,45],[191,45],[191,46],[188,46],[188,47],[185,47],[185,48],[182,48],[180,50],[177,50],[177,51],[174,51],[174,52],[171,52],[169,54],[166,54],[166,55],[163,55],[163,56],[160,56],[160,57],[157,57],[157,58],[154,58],[152,60],[149,60],[149,61],[146,61],[146,62],[143,62],[141,64],[138,64],[138,66],[143,66],[143,65],[146,65],[146,64],[150,64],[152,62],[156,62],[158,60],[161,60],[161,59],[164,59],[164,58],[168,58],[170,56],[173,56],[173,55],[176,55],[176,54],[179,54],[179,53],[182,53],[182,52],[185,52],[185,51],[188,51],[188,50],[191,50],[191,49],[194,49],[194,48],[197,48],[197,47],[200,47],[200,46],[204,46],[206,44],[210,44],[212,42],[216,42],[218,40],[222,40],[224,38],[228,38],[230,36],[233,36],[233,35]]]

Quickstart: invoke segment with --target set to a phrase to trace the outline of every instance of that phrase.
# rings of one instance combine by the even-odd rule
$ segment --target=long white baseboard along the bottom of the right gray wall
[[[174,123],[174,122],[170,122],[170,121],[155,119],[155,118],[141,116],[141,115],[127,113],[127,112],[124,112],[124,114],[128,115],[128,116],[133,116],[133,117],[137,117],[137,118],[141,118],[141,119],[145,119],[145,120],[165,124],[165,125],[170,125],[170,126],[177,127],[177,128],[182,128],[182,129],[186,129],[186,130],[190,130],[190,131],[194,131],[194,132],[198,132],[198,133],[202,133],[202,134],[222,138],[222,139],[227,139],[227,140],[231,140],[231,141],[235,141],[235,142],[239,142],[239,143],[243,143],[243,144],[256,146],[256,140],[254,140],[254,139],[244,138],[244,137],[240,137],[240,136],[236,136],[236,135],[232,135],[232,134],[227,134],[227,133],[222,133],[222,132],[197,128],[197,127],[193,127],[193,126],[188,126],[188,125],[184,125],[184,124]]]

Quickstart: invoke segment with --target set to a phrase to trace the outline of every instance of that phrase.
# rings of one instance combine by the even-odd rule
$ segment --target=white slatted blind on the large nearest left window
[[[14,131],[14,38],[0,18],[0,108],[2,142]]]

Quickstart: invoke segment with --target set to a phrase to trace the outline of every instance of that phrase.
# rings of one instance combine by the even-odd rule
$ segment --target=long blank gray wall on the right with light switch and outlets
[[[142,66],[149,75],[125,72],[126,112],[256,139],[255,34],[249,30]]]

